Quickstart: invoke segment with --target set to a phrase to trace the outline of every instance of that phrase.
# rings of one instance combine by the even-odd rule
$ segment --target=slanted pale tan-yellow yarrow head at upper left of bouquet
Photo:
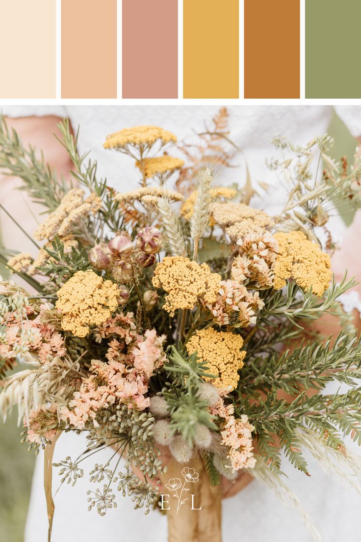
[[[60,205],[51,212],[47,220],[38,225],[34,237],[38,241],[51,239],[54,235],[63,237],[70,233],[73,225],[82,218],[94,213],[102,205],[101,198],[95,194],[83,202],[84,190],[73,188],[63,197]]]

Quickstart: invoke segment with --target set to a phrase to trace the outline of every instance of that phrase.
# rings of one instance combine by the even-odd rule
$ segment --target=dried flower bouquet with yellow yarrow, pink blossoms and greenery
[[[361,443],[361,346],[338,301],[355,281],[334,282],[327,230],[335,202],[360,206],[359,161],[345,172],[327,136],[305,148],[276,139],[291,158],[269,165],[288,195],[269,216],[252,207],[248,181],[215,184],[204,146],[188,167],[170,156],[176,137],[162,128],[121,130],[104,143],[134,160],[140,186],[125,193],[78,155],[67,121],[60,129],[71,186],[3,119],[0,130],[0,166],[48,211],[31,237],[36,254],[0,255],[29,285],[1,281],[0,406],[5,417],[16,404],[23,441],[45,450],[50,527],[52,452],[70,430],[86,432],[88,453],[57,464],[62,482],[74,485],[84,457],[109,449],[108,463],[89,473],[100,487],[88,506],[101,515],[116,507],[116,489],[146,512],[157,505],[165,447],[181,467],[201,462],[213,492],[221,477],[250,469],[301,509],[283,482],[281,451],[308,474],[305,449],[360,491],[361,462],[343,434]],[[321,175],[314,160],[323,161]],[[338,318],[337,337],[311,331],[324,313]],[[6,377],[17,364],[24,369]],[[334,380],[349,390],[329,395]]]

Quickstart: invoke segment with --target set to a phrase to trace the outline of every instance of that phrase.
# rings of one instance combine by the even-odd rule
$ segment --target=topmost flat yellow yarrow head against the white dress
[[[175,143],[176,140],[177,138],[172,132],[167,132],[158,126],[134,126],[108,135],[104,148],[124,150],[128,145],[150,147],[156,141],[165,145],[166,143]]]

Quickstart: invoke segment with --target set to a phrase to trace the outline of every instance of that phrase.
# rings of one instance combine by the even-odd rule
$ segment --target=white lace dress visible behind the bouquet
[[[5,107],[4,113],[10,116],[31,114],[58,114],[70,117],[73,127],[80,125],[80,152],[91,149],[92,157],[97,159],[99,175],[107,177],[110,184],[118,190],[129,190],[137,183],[134,163],[131,158],[115,152],[105,151],[102,143],[106,135],[123,127],[140,124],[159,125],[174,132],[179,139],[204,130],[208,121],[216,113],[217,106],[65,106],[47,108]],[[295,144],[305,144],[314,135],[326,132],[332,108],[329,106],[230,106],[231,137],[242,150],[233,163],[238,167],[222,170],[220,184],[233,181],[242,182],[245,178],[245,163],[250,169],[252,182],[259,181],[272,186],[267,195],[259,189],[257,205],[268,212],[276,212],[284,198],[284,190],[274,173],[268,171],[266,158],[276,156],[270,139],[282,134]],[[353,135],[361,134],[361,107],[342,106],[337,113],[345,121]],[[192,132],[193,131],[193,132]],[[188,140],[192,140],[188,138]],[[196,140],[196,137],[193,136]],[[258,187],[259,188],[259,187]],[[342,221],[334,218],[332,233],[341,237],[344,230]],[[352,304],[350,309],[358,303]],[[57,442],[54,461],[70,455],[75,459],[85,449],[81,436],[63,435]],[[106,463],[109,453],[100,451],[82,466],[87,473],[94,464]],[[25,542],[47,540],[47,514],[43,494],[42,455],[37,459],[32,485],[29,515],[25,532]],[[321,471],[310,455],[309,472],[311,478],[299,473],[284,462],[286,480],[301,504],[309,511],[318,526],[325,542],[353,542],[359,540],[360,496],[344,486],[342,481],[330,480]],[[59,477],[54,472],[54,491]],[[55,517],[52,542],[97,542],[102,539],[132,542],[166,542],[166,519],[158,512],[145,516],[142,511],[134,511],[128,498],[117,495],[118,507],[100,517],[93,510],[87,511],[87,489],[91,487],[87,476],[79,480],[75,487],[62,486],[55,496]],[[94,489],[93,487],[91,489]],[[258,482],[252,482],[244,491],[227,499],[223,504],[224,540],[240,542],[306,542],[311,540],[303,522],[293,509],[286,511],[283,504]],[[188,541],[185,541],[188,542]]]

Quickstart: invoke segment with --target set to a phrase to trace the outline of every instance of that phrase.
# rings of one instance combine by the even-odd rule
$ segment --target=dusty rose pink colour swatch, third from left
[[[178,98],[178,0],[123,0],[123,98]]]

